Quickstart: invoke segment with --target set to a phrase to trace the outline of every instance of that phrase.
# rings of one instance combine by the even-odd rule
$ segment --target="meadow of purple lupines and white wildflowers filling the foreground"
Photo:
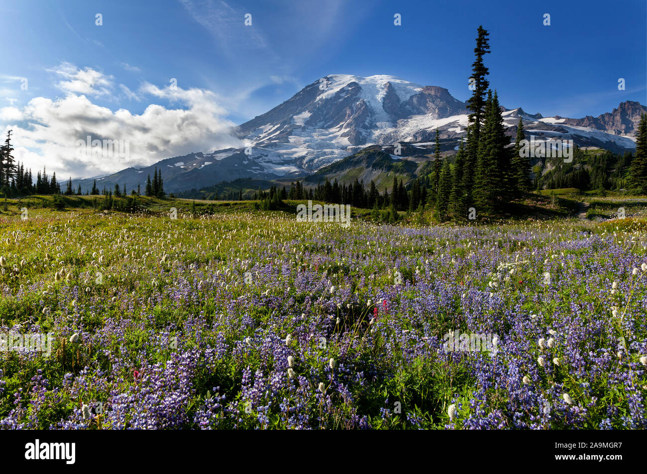
[[[429,226],[171,205],[1,218],[0,427],[647,427],[642,208]]]

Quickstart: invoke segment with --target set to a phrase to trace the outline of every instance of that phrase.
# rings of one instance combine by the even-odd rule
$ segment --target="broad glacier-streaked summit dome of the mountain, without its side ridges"
[[[430,126],[465,111],[442,87],[339,74],[308,85],[237,133],[252,150],[289,157],[311,172],[368,145],[426,140]]]

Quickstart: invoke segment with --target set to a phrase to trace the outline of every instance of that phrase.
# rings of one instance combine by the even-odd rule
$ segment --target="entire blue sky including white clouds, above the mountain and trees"
[[[644,0],[21,0],[0,6],[0,124],[29,166],[87,176],[236,145],[227,127],[328,74],[391,74],[466,100],[479,25],[506,107],[582,117],[647,103]],[[70,156],[84,133],[126,137],[132,160]]]

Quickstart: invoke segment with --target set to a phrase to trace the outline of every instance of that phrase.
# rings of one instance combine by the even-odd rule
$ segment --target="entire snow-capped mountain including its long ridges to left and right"
[[[635,148],[633,135],[641,113],[647,113],[647,107],[623,102],[613,112],[597,118],[544,118],[517,108],[505,109],[503,119],[511,137],[516,135],[521,118],[527,136],[539,140],[571,139],[578,146],[619,152]],[[406,142],[415,145],[417,155],[428,155],[435,129],[439,129],[447,149],[448,139],[458,141],[465,135],[467,125],[465,103],[443,87],[423,87],[393,76],[334,74],[239,125],[232,133],[243,140],[244,148],[192,153],[167,158],[154,166],[162,169],[168,191],[201,188],[236,178],[296,178],[370,145],[387,149]],[[119,183],[128,189],[137,188],[138,182],[144,185],[153,169],[124,169],[97,180],[97,186]],[[83,190],[92,186],[92,180],[77,180],[75,188],[79,182]]]

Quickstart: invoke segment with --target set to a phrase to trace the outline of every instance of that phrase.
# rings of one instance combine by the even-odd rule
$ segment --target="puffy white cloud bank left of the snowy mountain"
[[[123,108],[113,112],[88,98],[112,87],[109,76],[73,65],[66,65],[65,71],[61,74],[65,97],[36,97],[22,109],[0,108],[0,120],[11,124],[5,133],[6,129],[14,130],[14,156],[34,172],[45,164],[59,176],[89,177],[129,166],[149,166],[193,151],[242,146],[230,135],[235,124],[223,118],[226,110],[211,91],[144,83],[136,94],[120,85],[133,98],[166,100],[170,105],[151,103],[141,114]],[[91,140],[126,140],[129,156],[78,155],[76,144],[87,136]]]

